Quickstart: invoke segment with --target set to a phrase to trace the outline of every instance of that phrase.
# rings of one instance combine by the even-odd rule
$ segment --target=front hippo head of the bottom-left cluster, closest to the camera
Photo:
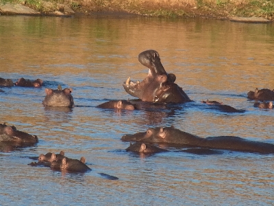
[[[80,160],[77,159],[66,159],[65,157],[61,161],[51,162],[51,168],[66,170],[69,172],[87,172],[91,169],[86,163],[86,158],[81,157]]]

